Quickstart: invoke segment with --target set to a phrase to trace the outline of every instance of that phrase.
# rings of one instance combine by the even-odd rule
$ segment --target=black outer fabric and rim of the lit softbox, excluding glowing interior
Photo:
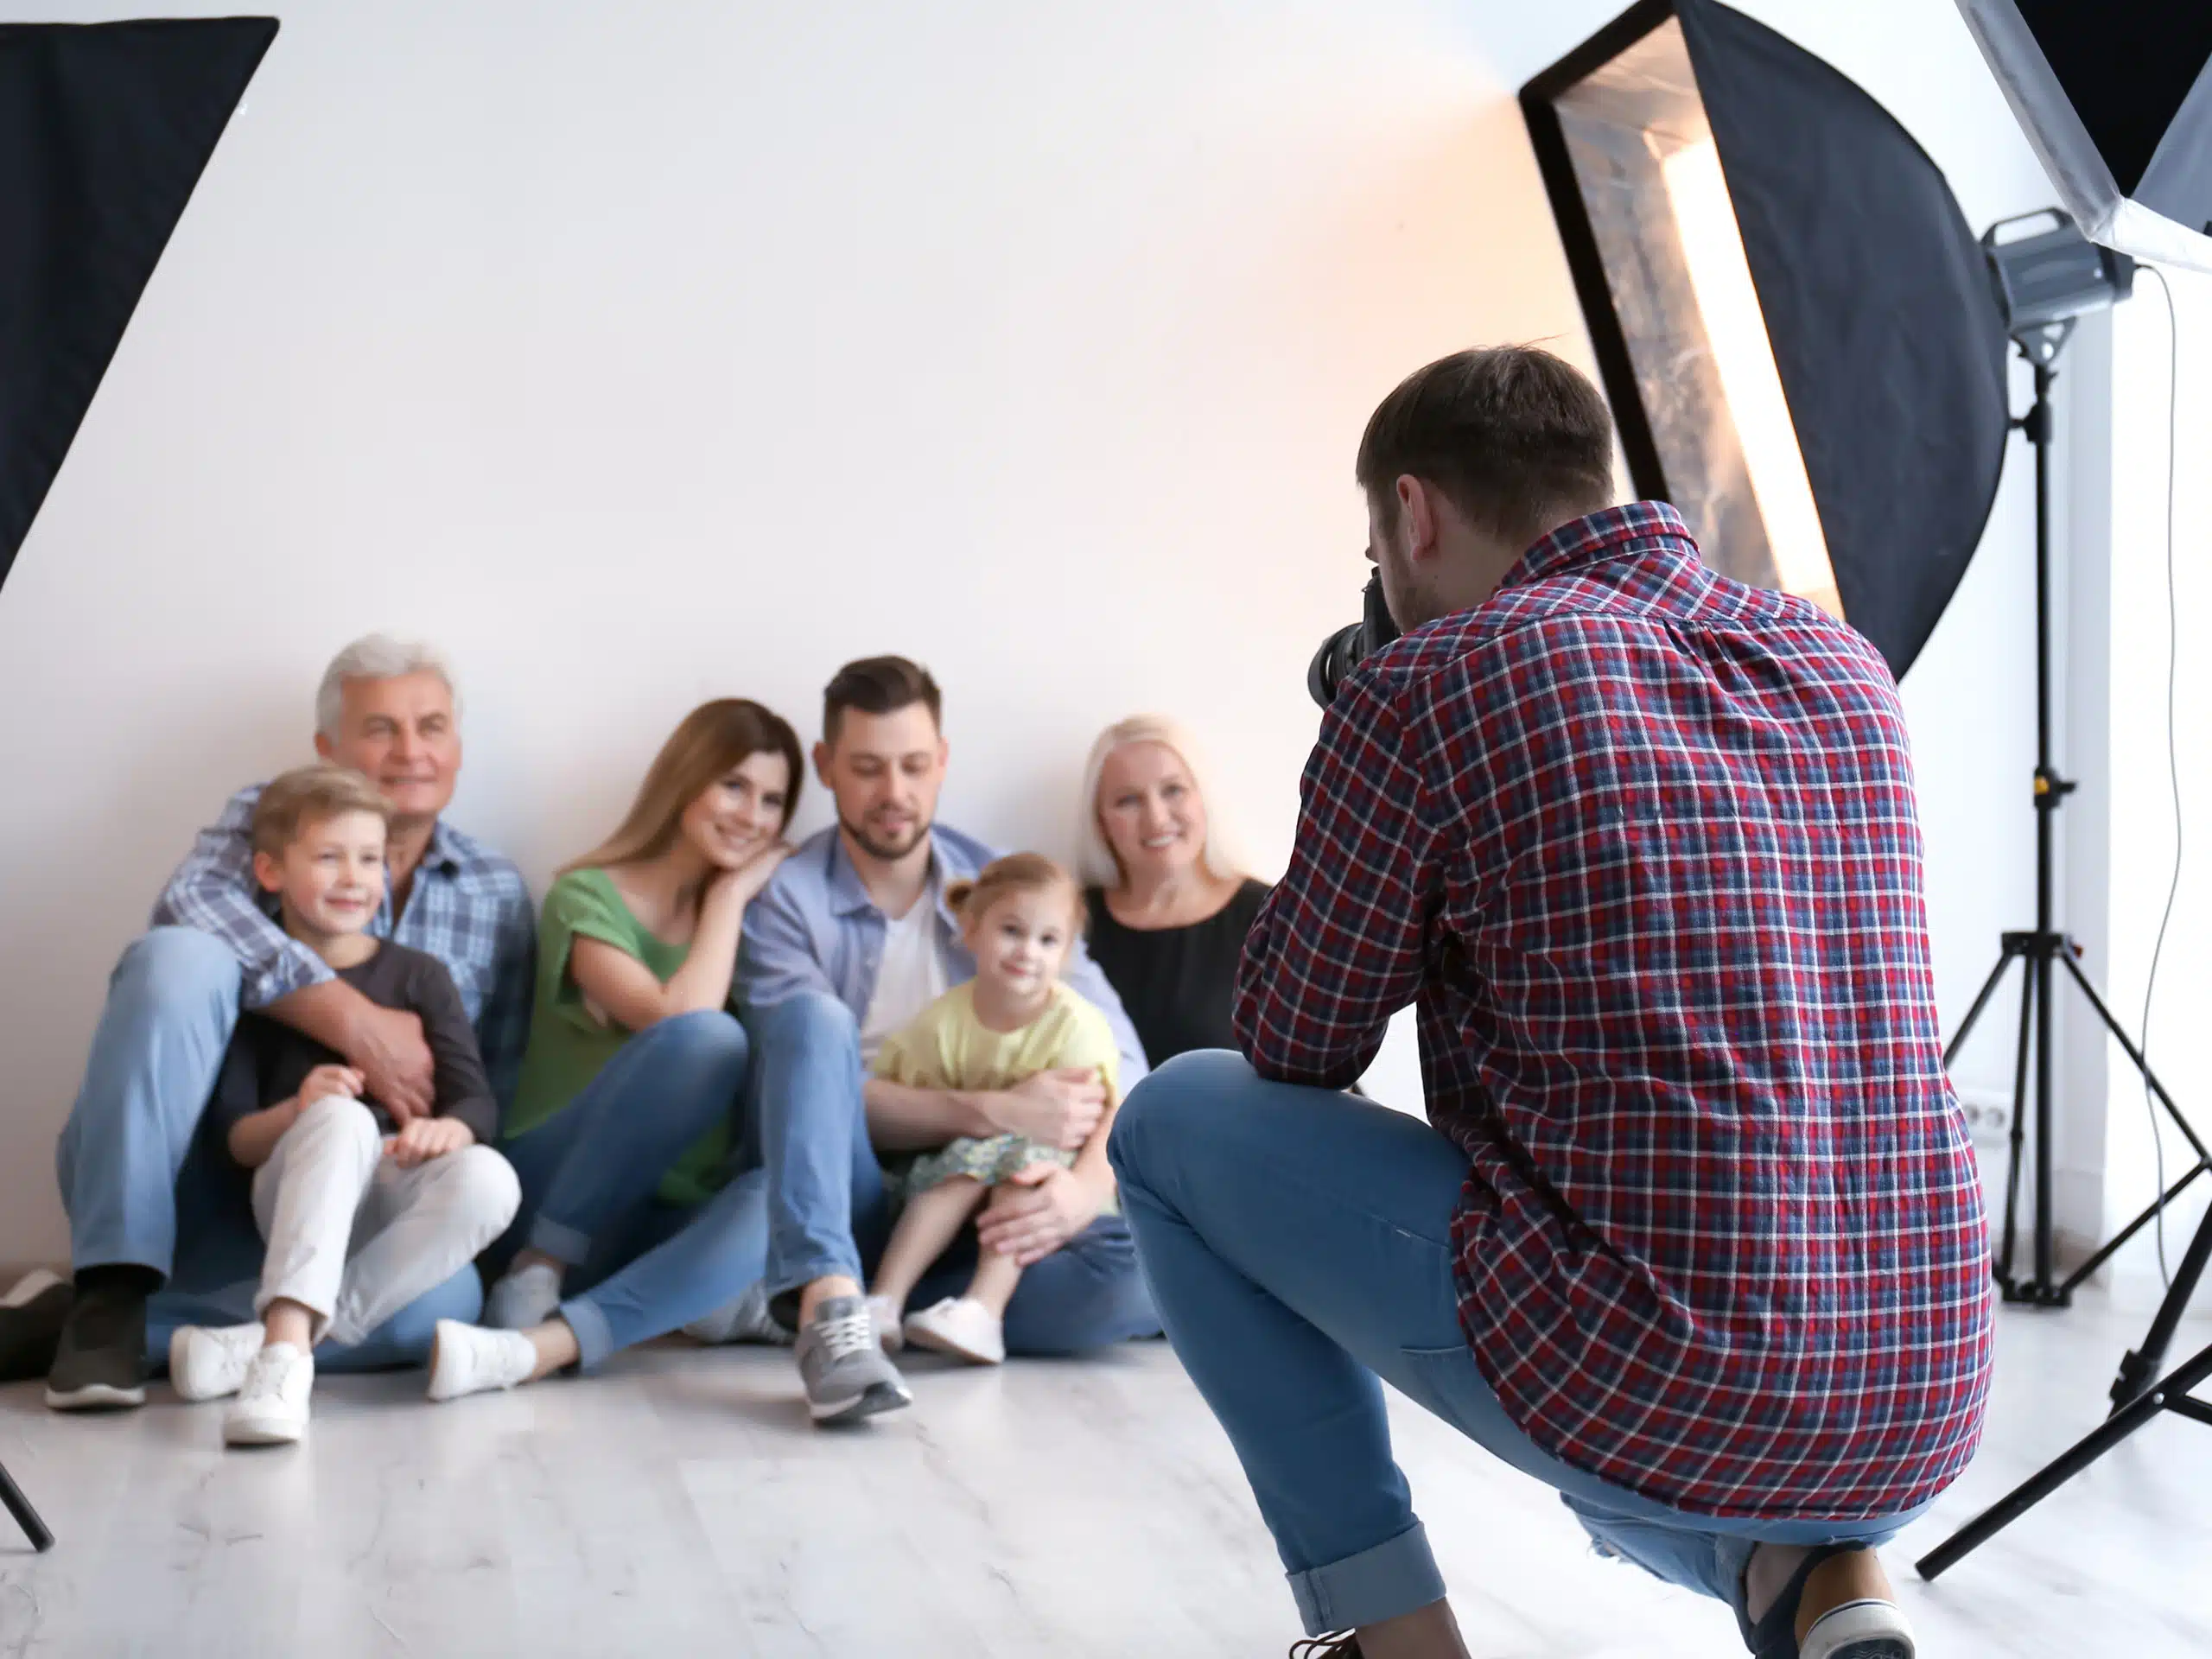
[[[1668,498],[1553,100],[1679,20],[1845,617],[1893,675],[1958,588],[2011,429],[2004,319],[1942,173],[1865,91],[1712,0],[1630,9],[1522,88],[1635,484]]]

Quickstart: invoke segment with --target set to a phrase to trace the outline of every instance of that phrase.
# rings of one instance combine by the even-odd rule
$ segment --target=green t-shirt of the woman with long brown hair
[[[670,945],[639,922],[604,869],[571,869],[546,891],[538,922],[538,993],[531,1002],[531,1046],[522,1055],[522,1082],[507,1113],[507,1139],[515,1139],[584,1093],[630,1033],[591,1006],[568,973],[568,947],[595,938],[628,951],[661,984],[690,958],[690,945]],[[730,1124],[708,1130],[684,1157],[668,1166],[659,1197],[668,1203],[703,1203],[728,1179]]]

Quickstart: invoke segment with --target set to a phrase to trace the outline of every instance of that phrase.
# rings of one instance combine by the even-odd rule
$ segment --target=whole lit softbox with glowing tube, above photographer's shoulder
[[[2004,319],[1942,173],[1712,0],[1632,7],[1520,102],[1637,491],[1902,677],[2011,429]]]

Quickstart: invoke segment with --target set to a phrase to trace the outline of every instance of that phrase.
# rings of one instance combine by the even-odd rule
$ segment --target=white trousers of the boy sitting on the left
[[[316,1343],[358,1343],[473,1261],[520,1206],[522,1183],[489,1146],[403,1170],[367,1106],[323,1095],[254,1170],[268,1239],[254,1314],[294,1301]]]

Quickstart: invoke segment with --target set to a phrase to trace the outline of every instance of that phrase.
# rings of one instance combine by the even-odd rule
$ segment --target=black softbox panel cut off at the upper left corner
[[[274,18],[0,24],[0,582]]]

